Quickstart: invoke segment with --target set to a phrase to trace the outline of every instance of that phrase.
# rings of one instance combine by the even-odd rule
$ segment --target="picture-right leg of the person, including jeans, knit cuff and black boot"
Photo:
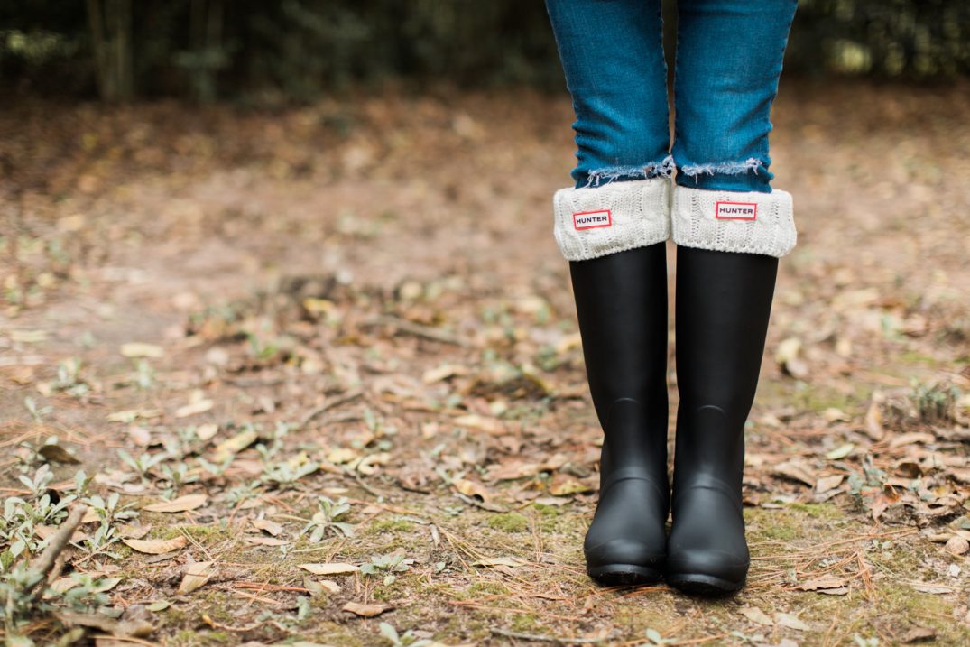
[[[795,0],[679,0],[674,87],[677,243],[674,451],[667,582],[736,591],[750,558],[741,483],[792,198],[772,191],[769,112]]]

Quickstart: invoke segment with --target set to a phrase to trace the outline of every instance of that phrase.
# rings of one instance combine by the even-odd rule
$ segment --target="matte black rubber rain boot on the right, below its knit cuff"
[[[778,259],[677,247],[673,526],[667,583],[702,596],[744,586],[741,479]]]

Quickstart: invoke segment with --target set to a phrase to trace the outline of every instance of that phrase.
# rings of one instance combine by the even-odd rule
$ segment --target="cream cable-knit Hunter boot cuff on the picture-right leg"
[[[782,257],[796,241],[792,194],[673,189],[673,241],[688,247]]]

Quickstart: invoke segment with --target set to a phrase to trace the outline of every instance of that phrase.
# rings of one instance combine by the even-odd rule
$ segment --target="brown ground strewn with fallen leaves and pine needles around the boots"
[[[749,584],[715,601],[583,569],[566,96],[5,103],[7,638],[970,643],[967,91],[783,83],[799,242],[747,433]],[[81,501],[28,596],[16,566]]]

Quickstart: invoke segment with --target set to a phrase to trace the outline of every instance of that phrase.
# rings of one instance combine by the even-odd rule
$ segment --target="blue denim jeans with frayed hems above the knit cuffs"
[[[796,0],[678,0],[670,149],[661,0],[546,0],[576,121],[576,188],[670,177],[770,193],[769,113]]]

